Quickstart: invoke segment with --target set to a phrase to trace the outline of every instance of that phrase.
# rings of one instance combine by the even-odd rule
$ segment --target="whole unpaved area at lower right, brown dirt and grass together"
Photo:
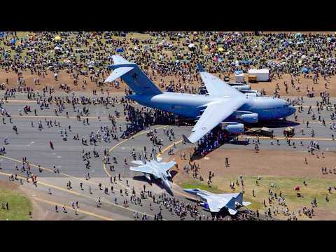
[[[184,165],[188,165],[188,160],[181,160],[180,154],[189,153],[192,148],[186,148],[177,152],[174,159],[179,168],[174,172],[173,181],[181,186],[200,184],[199,179],[193,179],[192,172],[186,174],[183,172]],[[237,193],[241,191],[241,186],[236,185],[236,190],[230,190],[230,181],[236,181],[239,175],[244,177],[245,194],[244,199],[252,202],[248,207],[252,210],[258,209],[260,212],[268,209],[268,207],[279,207],[276,202],[267,203],[264,207],[262,202],[269,197],[268,190],[280,192],[286,195],[286,203],[291,211],[297,212],[302,207],[309,207],[311,200],[316,197],[318,207],[314,209],[314,218],[307,216],[297,216],[299,220],[336,220],[335,212],[335,193],[330,194],[330,201],[325,201],[325,195],[328,193],[328,186],[335,186],[336,174],[321,173],[321,167],[331,167],[331,170],[336,164],[336,155],[333,152],[324,153],[325,158],[316,158],[316,156],[307,155],[306,152],[300,151],[277,151],[277,150],[262,150],[259,153],[254,153],[252,150],[237,150],[237,149],[217,149],[209,153],[206,157],[195,160],[200,165],[200,174],[203,188],[207,188],[207,178],[209,171],[214,172],[215,176],[211,188],[205,190],[219,190],[224,193]],[[304,157],[307,156],[308,165],[304,164]],[[230,167],[225,167],[225,158],[229,158]],[[256,179],[260,176],[262,179],[257,186]],[[308,186],[303,186],[303,181],[307,181]],[[271,188],[271,183],[276,184],[275,188]],[[302,197],[297,197],[293,188],[300,186]],[[255,191],[255,196],[252,193]],[[215,192],[216,193],[216,192]],[[281,207],[280,207],[281,208]],[[287,217],[278,214],[276,218],[285,220]]]

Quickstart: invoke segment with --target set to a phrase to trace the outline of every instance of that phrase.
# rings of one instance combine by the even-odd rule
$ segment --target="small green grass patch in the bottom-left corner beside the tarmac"
[[[29,211],[33,210],[31,201],[18,191],[0,188],[0,204],[8,202],[9,210],[0,206],[0,221],[27,221]]]

